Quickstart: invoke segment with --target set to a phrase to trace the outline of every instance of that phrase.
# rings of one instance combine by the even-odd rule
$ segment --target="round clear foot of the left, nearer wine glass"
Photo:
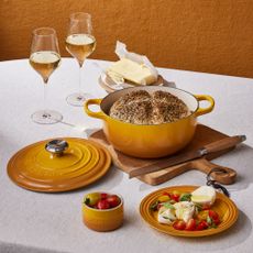
[[[54,124],[63,120],[63,116],[53,110],[36,111],[31,116],[31,118],[38,124]]]

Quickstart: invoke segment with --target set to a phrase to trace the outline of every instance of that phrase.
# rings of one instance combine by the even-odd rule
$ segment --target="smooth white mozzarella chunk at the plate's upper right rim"
[[[216,190],[210,186],[201,186],[191,193],[191,201],[202,206],[211,206],[216,201]]]

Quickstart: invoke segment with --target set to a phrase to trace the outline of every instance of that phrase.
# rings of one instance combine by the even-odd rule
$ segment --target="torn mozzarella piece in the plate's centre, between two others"
[[[195,215],[195,205],[189,201],[180,201],[173,205],[177,219],[188,222]]]

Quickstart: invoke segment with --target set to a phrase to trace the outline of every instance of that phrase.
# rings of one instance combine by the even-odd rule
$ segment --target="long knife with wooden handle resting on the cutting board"
[[[148,173],[158,172],[161,169],[164,169],[164,168],[167,168],[174,165],[178,165],[178,164],[182,164],[188,161],[200,158],[208,154],[233,147],[238,145],[239,143],[244,142],[245,140],[246,140],[245,135],[235,135],[231,138],[224,138],[220,141],[212,142],[208,145],[205,145],[196,151],[188,151],[184,154],[178,154],[170,158],[169,157],[163,158],[158,162],[155,162],[154,164],[151,164],[151,165],[147,165],[141,168],[134,168],[129,173],[129,178],[142,176]]]

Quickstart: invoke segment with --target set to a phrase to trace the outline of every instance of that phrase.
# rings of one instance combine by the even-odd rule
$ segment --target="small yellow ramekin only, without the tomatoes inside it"
[[[118,197],[120,197],[118,195]],[[91,230],[112,231],[123,223],[123,199],[119,206],[110,209],[96,209],[82,204],[82,221]]]

